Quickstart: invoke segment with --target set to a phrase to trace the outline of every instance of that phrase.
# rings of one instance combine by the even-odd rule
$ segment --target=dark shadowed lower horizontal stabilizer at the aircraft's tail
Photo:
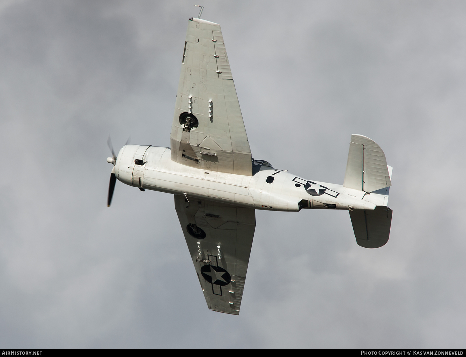
[[[356,243],[364,248],[382,247],[390,236],[391,215],[392,210],[384,206],[349,211]]]

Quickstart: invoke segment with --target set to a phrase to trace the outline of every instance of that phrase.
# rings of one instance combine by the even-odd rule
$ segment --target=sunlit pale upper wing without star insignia
[[[188,21],[170,145],[173,161],[252,175],[240,103],[220,25],[214,22]]]

